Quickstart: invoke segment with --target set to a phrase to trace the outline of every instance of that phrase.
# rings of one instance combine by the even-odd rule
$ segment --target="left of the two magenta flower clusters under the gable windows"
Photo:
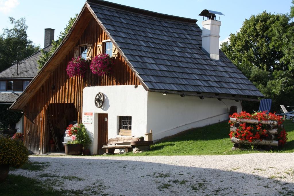
[[[72,58],[71,61],[67,64],[66,72],[70,78],[74,76],[85,76],[87,71],[87,61],[79,56],[78,58]]]

